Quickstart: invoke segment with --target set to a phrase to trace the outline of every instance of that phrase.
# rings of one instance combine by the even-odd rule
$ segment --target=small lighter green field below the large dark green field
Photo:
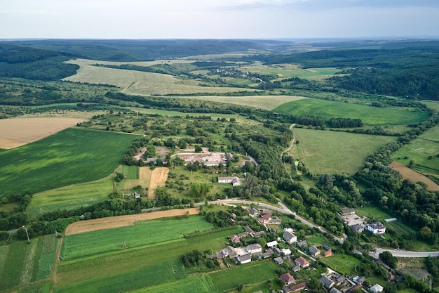
[[[65,187],[46,190],[36,193],[27,207],[26,213],[36,218],[41,213],[56,211],[57,209],[75,209],[102,202],[108,199],[113,192],[113,176]]]

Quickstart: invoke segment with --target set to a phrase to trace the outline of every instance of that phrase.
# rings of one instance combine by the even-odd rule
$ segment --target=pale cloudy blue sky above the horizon
[[[438,37],[439,0],[0,0],[0,39]]]

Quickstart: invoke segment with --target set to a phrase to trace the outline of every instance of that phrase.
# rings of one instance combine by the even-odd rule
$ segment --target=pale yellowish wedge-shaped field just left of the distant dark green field
[[[209,102],[227,103],[241,106],[273,110],[285,103],[306,99],[302,96],[197,96],[197,97],[174,97],[190,98],[195,100],[207,100]]]

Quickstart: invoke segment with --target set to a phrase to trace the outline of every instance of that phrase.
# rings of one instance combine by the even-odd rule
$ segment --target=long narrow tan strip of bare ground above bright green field
[[[65,235],[67,236],[96,230],[132,226],[135,224],[136,221],[166,218],[169,216],[184,216],[186,214],[194,215],[199,213],[200,209],[194,207],[191,209],[170,209],[169,211],[154,211],[152,213],[127,216],[110,216],[108,218],[93,219],[72,223],[65,230]]]

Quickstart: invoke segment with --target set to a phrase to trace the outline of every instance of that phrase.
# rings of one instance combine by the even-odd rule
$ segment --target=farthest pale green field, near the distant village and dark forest
[[[276,77],[273,80],[289,79],[291,77],[299,77],[300,79],[308,80],[320,80],[336,76],[338,75],[336,73],[340,71],[338,68],[334,67],[302,69],[294,64],[262,65],[262,63],[238,67],[238,70],[241,72],[273,75]]]

